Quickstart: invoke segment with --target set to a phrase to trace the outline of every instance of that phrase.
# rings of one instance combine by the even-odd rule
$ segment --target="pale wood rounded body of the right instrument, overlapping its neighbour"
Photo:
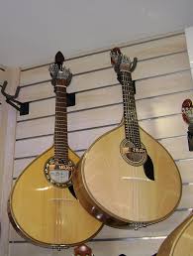
[[[154,181],[145,176],[144,166],[132,166],[122,157],[123,123],[90,146],[75,173],[80,202],[108,225],[160,221],[180,200],[181,178],[171,156],[142,128],[140,134],[153,164]]]

